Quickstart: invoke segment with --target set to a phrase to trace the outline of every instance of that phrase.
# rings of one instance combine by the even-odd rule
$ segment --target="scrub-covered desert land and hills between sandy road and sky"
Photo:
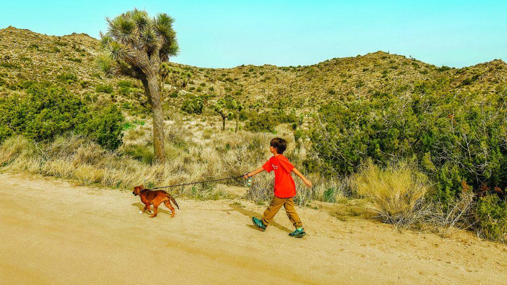
[[[296,180],[299,205],[361,199],[398,228],[507,239],[501,60],[450,68],[376,52],[298,67],[166,63],[175,75],[161,82],[167,163],[156,166],[143,84],[98,72],[97,40],[12,27],[0,35],[2,169],[114,188],[170,185],[249,171],[281,136],[314,183]],[[245,198],[266,203],[272,183],[256,176]],[[221,184],[175,191],[230,197]]]

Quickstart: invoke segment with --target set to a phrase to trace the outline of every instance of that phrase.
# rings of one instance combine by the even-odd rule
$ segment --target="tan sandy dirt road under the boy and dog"
[[[336,218],[337,205],[298,208],[308,235],[291,238],[283,209],[261,232],[242,200],[177,199],[169,218],[139,215],[127,191],[0,174],[2,284],[505,284],[507,246],[469,233],[400,233]]]

